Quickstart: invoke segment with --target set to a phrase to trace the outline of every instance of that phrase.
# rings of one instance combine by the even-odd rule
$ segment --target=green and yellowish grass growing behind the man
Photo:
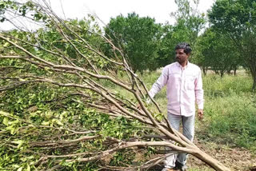
[[[159,72],[143,74],[146,86],[160,76]],[[203,76],[205,118],[196,122],[197,137],[230,146],[256,151],[256,96],[251,91],[252,79],[244,73],[236,76],[207,74]],[[166,113],[166,89],[155,100]]]

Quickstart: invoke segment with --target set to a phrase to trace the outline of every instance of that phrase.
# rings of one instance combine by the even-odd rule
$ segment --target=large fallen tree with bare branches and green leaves
[[[0,34],[1,169],[138,170],[183,152],[230,170],[172,129],[154,99],[146,104],[146,85],[90,22],[64,21],[46,3],[6,3],[2,11],[40,14],[45,27]],[[109,43],[114,55],[102,54],[95,40]],[[142,147],[171,150],[134,163],[132,149]]]

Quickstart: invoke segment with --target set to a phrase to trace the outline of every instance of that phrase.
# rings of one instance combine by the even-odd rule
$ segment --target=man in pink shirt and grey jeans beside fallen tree
[[[153,98],[166,85],[168,121],[176,130],[182,121],[183,135],[193,141],[195,103],[198,105],[199,120],[203,118],[203,89],[200,68],[188,61],[191,51],[186,42],[175,47],[177,62],[164,67],[149,94]],[[186,157],[186,153],[167,157],[162,170],[186,170]]]

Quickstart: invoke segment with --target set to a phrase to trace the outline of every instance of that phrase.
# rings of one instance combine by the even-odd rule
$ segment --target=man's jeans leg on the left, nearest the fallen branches
[[[178,130],[180,122],[182,120],[182,116],[168,113],[167,118],[168,121],[170,122],[171,127]],[[176,158],[177,154],[171,155],[170,157],[166,157],[166,160],[164,161],[165,167],[169,169],[174,168]]]

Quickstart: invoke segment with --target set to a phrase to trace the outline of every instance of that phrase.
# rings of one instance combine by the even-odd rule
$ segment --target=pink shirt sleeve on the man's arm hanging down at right
[[[198,109],[203,109],[203,89],[202,89],[202,74],[201,70],[199,69],[198,77],[195,80],[195,98],[198,105]]]

